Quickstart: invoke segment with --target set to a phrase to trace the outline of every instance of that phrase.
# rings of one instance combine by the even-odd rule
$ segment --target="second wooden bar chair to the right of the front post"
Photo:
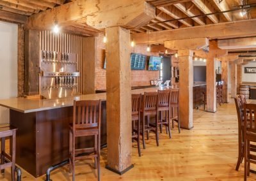
[[[143,141],[143,148],[146,148],[145,145],[145,133],[147,133],[147,140],[149,139],[149,132],[152,131],[154,133],[157,133],[156,129],[154,127],[151,127],[149,125],[150,123],[150,116],[154,115],[156,120],[158,117],[157,113],[157,99],[158,99],[158,92],[144,92],[143,96],[143,107],[141,109],[141,117],[142,117],[142,141]],[[147,120],[145,120],[145,117],[147,117]],[[158,134],[156,134],[156,143],[157,146],[159,146]]]

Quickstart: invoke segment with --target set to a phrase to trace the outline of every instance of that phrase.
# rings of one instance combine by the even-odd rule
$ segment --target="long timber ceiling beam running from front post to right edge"
[[[150,44],[163,43],[166,40],[181,40],[189,38],[206,37],[210,40],[227,39],[237,37],[256,36],[256,20],[243,20],[237,22],[224,22],[220,24],[210,24],[204,26],[186,27],[166,31],[149,33],[148,42]],[[136,43],[147,43],[147,34],[134,34]]]

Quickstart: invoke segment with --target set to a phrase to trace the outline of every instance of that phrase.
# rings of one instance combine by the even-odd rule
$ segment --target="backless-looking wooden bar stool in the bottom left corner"
[[[12,167],[12,181],[15,180],[15,156],[16,156],[16,131],[17,128],[10,125],[0,126],[1,138],[1,164],[0,170],[4,173],[4,169]],[[10,154],[5,152],[5,138],[10,136]]]

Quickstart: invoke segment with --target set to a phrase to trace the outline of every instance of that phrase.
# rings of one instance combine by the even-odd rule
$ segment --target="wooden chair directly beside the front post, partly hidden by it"
[[[132,94],[132,140],[138,143],[138,153],[141,156],[140,150],[140,108],[141,94]],[[138,121],[136,124],[136,120]],[[137,127],[136,127],[137,126]]]

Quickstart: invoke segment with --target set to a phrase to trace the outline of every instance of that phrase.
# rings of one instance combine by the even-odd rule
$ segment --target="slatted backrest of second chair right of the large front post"
[[[157,110],[158,92],[144,92],[143,111]]]

